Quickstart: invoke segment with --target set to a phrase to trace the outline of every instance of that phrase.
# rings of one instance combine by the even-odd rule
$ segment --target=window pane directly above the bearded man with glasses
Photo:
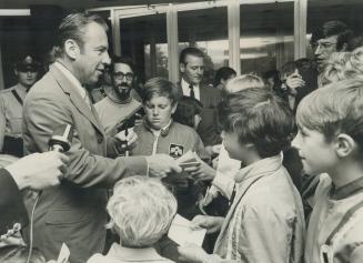
[[[141,81],[169,77],[167,16],[164,13],[120,20],[121,53],[137,62]]]

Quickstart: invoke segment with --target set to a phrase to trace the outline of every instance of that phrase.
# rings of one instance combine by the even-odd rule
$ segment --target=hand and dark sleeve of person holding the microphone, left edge
[[[28,224],[20,190],[58,185],[68,160],[59,152],[34,153],[0,169],[0,243]]]

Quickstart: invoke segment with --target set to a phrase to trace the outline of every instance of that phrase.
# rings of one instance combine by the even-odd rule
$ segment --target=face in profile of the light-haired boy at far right
[[[306,128],[299,129],[292,146],[298,149],[306,174],[329,173],[334,169],[336,163],[334,142],[326,142],[323,133]]]

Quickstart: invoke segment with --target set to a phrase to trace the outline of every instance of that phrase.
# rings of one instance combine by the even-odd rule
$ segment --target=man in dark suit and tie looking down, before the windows
[[[218,129],[216,109],[221,101],[221,93],[213,87],[202,83],[204,73],[204,54],[196,48],[185,48],[180,53],[180,88],[183,95],[192,97],[203,104],[201,123],[198,128],[206,149],[221,143]],[[209,148],[208,148],[209,146]]]

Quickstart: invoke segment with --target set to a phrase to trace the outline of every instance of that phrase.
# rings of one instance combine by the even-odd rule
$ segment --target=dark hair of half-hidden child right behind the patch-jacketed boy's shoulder
[[[194,115],[200,114],[202,109],[203,104],[199,100],[183,95],[178,102],[173,120],[194,128]]]

